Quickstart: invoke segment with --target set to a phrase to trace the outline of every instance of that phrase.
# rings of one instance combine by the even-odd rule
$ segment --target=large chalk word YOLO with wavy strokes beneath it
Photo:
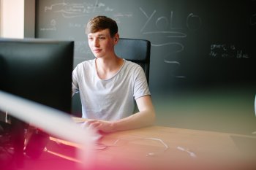
[[[184,18],[184,26],[186,28],[181,28],[174,26],[174,12],[170,11],[170,16],[160,16],[155,17],[157,10],[155,9],[153,12],[148,14],[142,7],[140,7],[140,11],[146,17],[146,22],[143,27],[140,29],[140,32],[145,36],[156,37],[155,39],[151,39],[151,46],[153,47],[168,47],[170,52],[164,55],[164,62],[167,64],[174,64],[173,66],[176,69],[173,69],[172,72],[176,72],[178,68],[181,66],[181,63],[177,60],[173,60],[174,56],[177,56],[177,53],[181,53],[184,50],[184,45],[181,42],[176,42],[174,39],[186,39],[187,34],[184,30],[189,31],[197,31],[202,26],[202,20],[198,15],[193,13],[189,13],[187,18]],[[153,28],[149,26],[149,23],[153,22],[156,30],[152,30]],[[148,31],[148,29],[150,31]],[[159,31],[159,30],[166,31]],[[146,31],[147,30],[147,31]],[[157,39],[160,39],[157,42]],[[184,75],[175,75],[174,73],[170,73],[172,77],[176,78],[186,78]]]

